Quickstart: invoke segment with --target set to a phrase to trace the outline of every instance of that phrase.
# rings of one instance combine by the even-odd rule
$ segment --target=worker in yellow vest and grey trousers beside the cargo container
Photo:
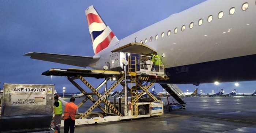
[[[62,106],[61,106],[61,102],[58,99],[58,96],[54,97],[54,107],[53,107],[53,112],[54,112],[54,119],[53,119],[53,123],[55,126],[55,131],[57,131],[56,133],[60,133],[60,123],[61,123],[61,116],[62,116]],[[55,132],[54,132],[55,133]]]

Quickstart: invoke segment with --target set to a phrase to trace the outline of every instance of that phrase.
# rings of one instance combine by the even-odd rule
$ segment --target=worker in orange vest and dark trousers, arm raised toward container
[[[62,104],[65,106],[64,109],[64,133],[75,132],[75,114],[78,114],[78,107],[75,105],[75,98],[71,97],[70,102],[64,101],[59,94],[56,94]]]

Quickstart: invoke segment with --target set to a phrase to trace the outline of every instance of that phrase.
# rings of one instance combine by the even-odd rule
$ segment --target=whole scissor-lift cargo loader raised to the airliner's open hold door
[[[147,47],[144,44],[131,43],[125,48],[134,45]],[[164,76],[164,66],[159,65],[160,69],[158,72],[151,71],[153,63],[148,60],[150,56],[121,51],[125,51],[125,49],[117,48],[113,50],[114,53],[110,56],[110,67],[104,66],[103,70],[69,68],[50,69],[42,73],[42,75],[46,76],[66,76],[76,88],[86,95],[85,99],[78,104],[78,108],[87,100],[93,102],[93,105],[75,120],[75,125],[97,124],[101,122],[159,116],[163,114],[163,102],[154,97],[148,89],[157,80],[166,78]],[[151,51],[151,49],[148,51]],[[108,70],[108,68],[110,70]],[[104,78],[105,80],[99,84],[97,88],[94,88],[85,79],[86,77]],[[114,78],[116,79],[116,83],[110,87],[106,86],[106,82],[108,80],[114,80]],[[92,92],[86,92],[75,80],[82,81]],[[123,86],[125,94],[122,98],[114,98],[114,102],[109,102],[107,96],[118,84]],[[105,90],[101,94],[98,90],[103,85],[105,85]],[[142,91],[138,93],[138,90]],[[142,97],[145,92],[148,94],[149,98]],[[96,95],[98,99],[94,99],[92,95]],[[131,96],[131,98],[128,99],[128,95]],[[104,107],[99,105],[101,102],[104,103]],[[95,107],[101,109],[102,112],[92,113]],[[61,126],[64,126],[64,121],[61,122]]]

